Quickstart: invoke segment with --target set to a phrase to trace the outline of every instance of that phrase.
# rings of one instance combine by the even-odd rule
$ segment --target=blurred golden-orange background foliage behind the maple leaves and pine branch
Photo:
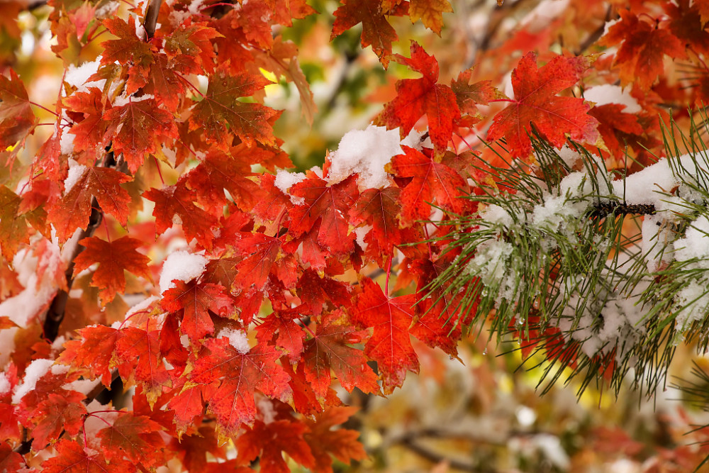
[[[342,135],[366,127],[393,99],[397,79],[415,77],[395,63],[385,71],[372,50],[360,48],[360,27],[331,42],[332,13],[339,3],[309,3],[320,14],[295,21],[283,34],[300,49],[299,61],[318,107],[312,126],[301,114],[294,84],[269,86],[266,98],[269,106],[285,110],[276,134],[285,140],[297,170],[322,165]],[[561,3],[563,9],[554,5]],[[449,83],[475,66],[478,80],[493,79],[501,88],[524,48],[581,52],[585,38],[603,27],[608,11],[607,2],[583,0],[506,0],[501,7],[495,0],[452,4],[455,13],[444,14],[440,38],[420,23],[391,18],[399,35],[394,52],[408,55],[409,40],[417,40],[440,63],[440,82]],[[15,69],[30,99],[48,108],[60,96],[64,62],[94,60],[101,43],[98,35],[81,50],[69,48],[66,57],[58,58],[51,50],[50,12],[41,1],[0,2],[0,68]],[[545,13],[546,23],[535,32],[530,23]],[[48,112],[35,112],[40,121],[52,122]],[[492,109],[487,115],[494,115]],[[45,140],[42,132],[51,129],[40,127],[30,138],[27,156]],[[21,155],[16,165],[27,162]],[[9,167],[0,169],[0,182],[10,172]],[[691,472],[709,453],[709,430],[693,430],[709,423],[703,406],[695,402],[709,397],[709,377],[696,376],[709,371],[709,360],[692,347],[677,347],[663,389],[649,396],[625,389],[617,397],[598,386],[579,394],[580,386],[564,384],[563,377],[540,396],[542,357],[538,365],[535,360],[522,365],[518,346],[496,345],[485,330],[462,343],[460,360],[423,344],[416,348],[421,373],[408,374],[403,389],[389,398],[340,393],[360,408],[346,426],[362,433],[369,459],[353,467],[335,465],[336,471]],[[299,471],[296,464],[291,466]]]

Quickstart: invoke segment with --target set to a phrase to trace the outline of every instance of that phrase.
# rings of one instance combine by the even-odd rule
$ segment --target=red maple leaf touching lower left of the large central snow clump
[[[320,219],[318,243],[336,255],[345,255],[352,250],[354,233],[350,233],[350,223],[346,216],[357,199],[354,176],[330,185],[311,174],[308,179],[291,186],[289,191],[291,195],[304,200],[303,204],[289,210],[289,230],[294,236],[307,233]]]

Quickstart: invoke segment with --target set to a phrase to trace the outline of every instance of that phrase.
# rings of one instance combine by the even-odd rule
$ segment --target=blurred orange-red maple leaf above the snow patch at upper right
[[[599,44],[618,46],[613,65],[620,67],[620,84],[631,82],[647,90],[664,72],[664,55],[686,57],[684,46],[669,30],[657,22],[635,15],[630,10],[618,11],[620,21],[608,28]]]

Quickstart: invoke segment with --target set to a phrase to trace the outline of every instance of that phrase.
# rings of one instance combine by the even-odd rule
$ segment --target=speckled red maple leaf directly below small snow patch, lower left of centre
[[[218,382],[209,399],[209,411],[216,416],[220,438],[235,435],[242,423],[256,416],[255,390],[271,398],[290,394],[288,375],[276,364],[281,353],[276,347],[259,343],[240,352],[226,338],[210,338],[204,345],[209,354],[199,357],[189,374],[192,382]]]

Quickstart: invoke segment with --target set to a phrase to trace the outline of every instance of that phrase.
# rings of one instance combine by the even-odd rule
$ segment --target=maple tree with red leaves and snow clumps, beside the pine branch
[[[537,2],[509,37],[496,28],[521,7],[491,6],[497,26],[455,67],[430,51],[456,2],[326,3],[50,0],[37,7],[62,73],[42,103],[17,48],[0,51],[0,468],[365,460],[347,399],[395,394],[488,322],[493,307],[467,296],[489,281],[445,279],[467,258],[456,242],[482,231],[460,223],[485,211],[476,196],[513,201],[513,163],[548,172],[540,141],[637,171],[664,153],[667,109],[690,129],[686,109],[709,99],[703,1],[568,0],[541,26]],[[0,6],[8,44],[28,8]],[[297,112],[269,101],[297,94],[318,126],[293,40],[307,21],[405,77],[310,169],[286,152]],[[435,34],[401,41],[406,23]],[[525,359],[583,362],[573,330],[525,304],[523,327],[486,328]],[[615,368],[587,358],[601,382]]]

